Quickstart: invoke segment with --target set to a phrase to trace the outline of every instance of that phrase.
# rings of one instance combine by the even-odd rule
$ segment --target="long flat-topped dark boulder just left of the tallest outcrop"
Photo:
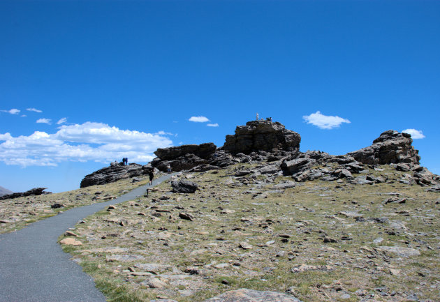
[[[154,154],[161,160],[175,160],[186,154],[194,154],[199,158],[208,159],[214,154],[216,149],[217,146],[215,144],[208,142],[205,144],[184,144],[164,149],[159,148],[154,151]]]

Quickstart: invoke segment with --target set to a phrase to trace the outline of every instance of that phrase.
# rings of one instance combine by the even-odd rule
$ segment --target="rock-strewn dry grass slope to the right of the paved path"
[[[110,301],[203,301],[240,287],[288,291],[302,301],[406,301],[413,295],[438,301],[438,193],[398,181],[354,186],[319,180],[279,192],[274,184],[289,178],[230,183],[235,168],[192,174],[189,180],[202,189],[195,194],[171,193],[162,183],[163,192],[89,216],[74,231],[84,245],[64,248]],[[401,177],[383,168],[370,172]],[[393,192],[398,195],[388,195]],[[159,199],[163,195],[169,199]],[[405,201],[386,204],[390,197]],[[326,237],[336,242],[325,243]],[[378,238],[383,241],[374,243]],[[243,249],[243,242],[252,248]],[[413,248],[420,256],[379,246]],[[142,264],[161,266],[147,275],[152,270]],[[300,264],[318,270],[293,273]],[[149,288],[142,283],[147,278],[160,278],[166,287]]]

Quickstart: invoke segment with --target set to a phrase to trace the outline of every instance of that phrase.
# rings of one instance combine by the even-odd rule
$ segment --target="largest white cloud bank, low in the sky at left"
[[[36,131],[29,136],[0,134],[0,161],[22,167],[56,166],[64,161],[94,160],[108,164],[127,157],[146,163],[158,148],[173,142],[161,135],[135,130],[119,130],[105,123],[87,122],[61,126],[57,133]]]

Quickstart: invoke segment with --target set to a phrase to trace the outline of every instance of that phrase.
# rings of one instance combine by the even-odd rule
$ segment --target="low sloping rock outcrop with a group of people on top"
[[[86,175],[81,181],[80,188],[103,185],[105,183],[119,181],[119,179],[146,175],[152,169],[154,168],[150,165],[139,165],[135,163],[131,163],[130,165],[110,165],[110,167],[105,167]]]

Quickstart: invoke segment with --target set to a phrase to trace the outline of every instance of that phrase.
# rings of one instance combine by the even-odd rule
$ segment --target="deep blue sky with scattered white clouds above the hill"
[[[416,130],[440,174],[439,16],[420,0],[0,1],[0,186],[79,188],[124,156],[221,146],[256,112],[302,151]]]

